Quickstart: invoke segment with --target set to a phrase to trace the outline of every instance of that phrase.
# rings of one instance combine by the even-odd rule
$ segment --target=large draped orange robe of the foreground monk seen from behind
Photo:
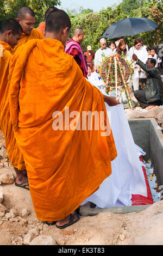
[[[80,115],[104,111],[106,122],[103,95],[60,41],[31,40],[12,58],[10,106],[36,216],[62,220],[111,174],[117,152],[111,130],[102,137],[101,130],[67,130],[65,121],[66,129],[53,130],[54,112],[65,120],[67,107]]]

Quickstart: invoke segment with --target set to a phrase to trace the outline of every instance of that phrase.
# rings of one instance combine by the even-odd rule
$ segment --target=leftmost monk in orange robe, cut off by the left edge
[[[23,155],[17,146],[14,132],[12,130],[9,110],[9,62],[13,53],[12,48],[17,44],[22,34],[22,27],[14,20],[3,22],[0,31],[0,129],[5,137],[5,146],[9,160],[16,172],[16,186],[29,190],[26,166]]]

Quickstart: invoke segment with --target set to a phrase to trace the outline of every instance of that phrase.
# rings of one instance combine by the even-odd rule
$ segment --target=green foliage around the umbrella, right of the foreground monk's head
[[[130,10],[124,8],[124,3],[128,3]],[[126,19],[127,17],[147,17],[160,25],[156,31],[124,37],[129,48],[133,46],[135,39],[139,36],[142,36],[144,44],[147,46],[156,46],[161,42],[163,33],[163,10],[161,0],[123,0],[121,4],[102,9],[99,13],[93,13],[90,9],[83,10],[84,9],[78,10],[76,14],[69,11],[68,14],[72,22],[70,38],[72,38],[73,31],[76,28],[82,28],[85,33],[85,38],[82,43],[84,52],[86,51],[87,45],[91,45],[92,50],[95,52],[99,48],[99,40],[102,38],[106,29],[111,26],[112,23]],[[107,39],[108,43],[109,41],[110,39]],[[116,39],[113,39],[113,41],[116,41]]]

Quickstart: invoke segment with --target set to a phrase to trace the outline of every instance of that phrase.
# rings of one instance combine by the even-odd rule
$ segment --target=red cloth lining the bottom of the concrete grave
[[[140,161],[143,162],[142,156],[140,157]],[[133,194],[131,200],[132,200],[132,205],[147,205],[147,204],[153,204],[153,198],[151,194],[151,189],[148,184],[148,179],[146,175],[146,170],[145,167],[142,167],[143,173],[145,175],[145,180],[146,180],[146,186],[147,186],[147,197],[141,196],[141,194]]]

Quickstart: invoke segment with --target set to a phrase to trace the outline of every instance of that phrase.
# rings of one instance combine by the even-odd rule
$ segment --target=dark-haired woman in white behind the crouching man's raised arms
[[[137,38],[134,42],[134,46],[130,48],[129,53],[130,53],[130,58],[133,57],[133,54],[136,54],[136,56],[141,60],[141,62],[146,63],[148,59],[148,53],[145,47],[142,46],[142,39]],[[142,82],[144,83],[146,79],[146,72],[143,71],[139,65],[134,65],[134,74],[132,75],[133,78],[133,87],[134,90],[139,89],[139,78],[143,80]],[[141,82],[141,81],[140,81]]]

